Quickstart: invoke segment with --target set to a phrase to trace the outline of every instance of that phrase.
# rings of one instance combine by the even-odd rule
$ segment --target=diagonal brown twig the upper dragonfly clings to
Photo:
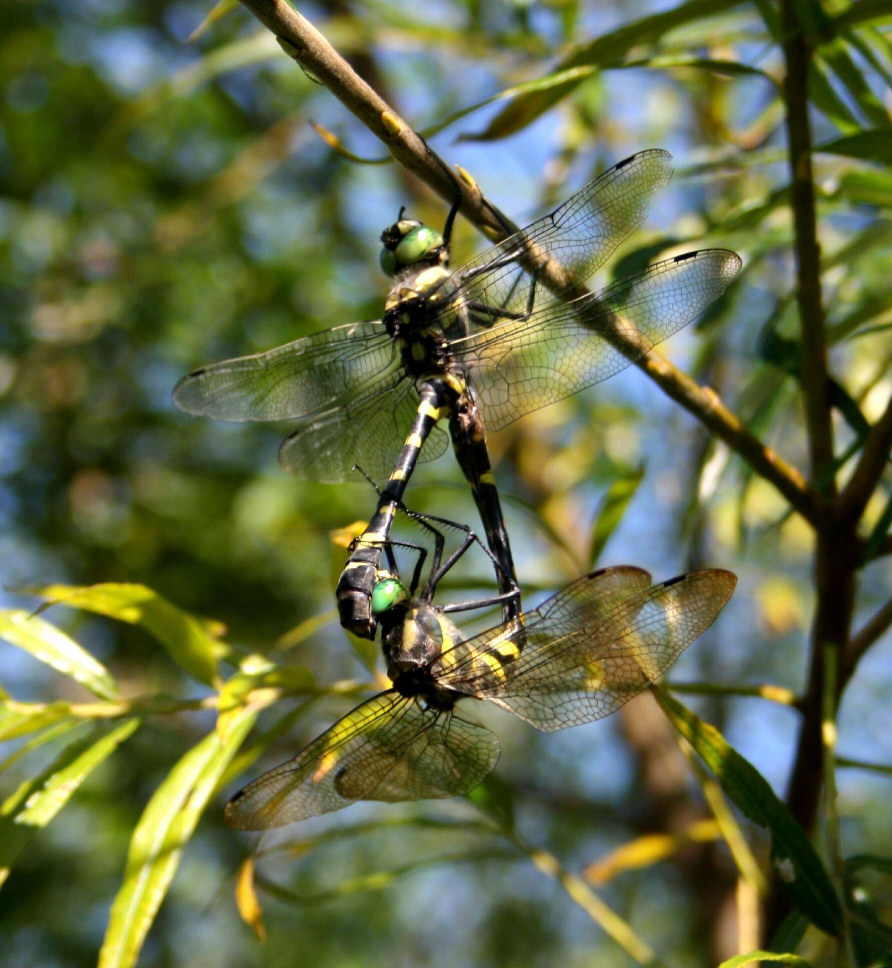
[[[428,148],[424,140],[354,73],[323,35],[285,0],[241,2],[280,41],[285,42],[283,49],[289,56],[311,75],[319,78],[372,134],[384,142],[387,150],[401,165],[412,171],[446,201],[451,202],[456,190],[460,190],[462,214],[489,239],[499,241],[506,237],[508,229],[514,228],[501,213],[496,214],[497,210],[483,197],[473,178],[460,171],[462,177],[451,180],[446,174],[445,163]],[[556,278],[549,279],[551,273]],[[549,283],[562,286],[559,269],[551,265],[540,272],[539,280],[545,287],[549,287]],[[576,298],[585,292],[580,287],[566,287],[566,277],[563,277],[562,287],[564,298]],[[631,338],[624,338],[617,333],[613,340],[631,358],[640,355],[639,348]],[[636,365],[672,400],[688,409],[732,450],[740,454],[756,473],[774,484],[806,521],[815,527],[819,525],[826,510],[821,496],[810,487],[797,469],[786,464],[771,448],[756,439],[743,422],[723,406],[712,389],[699,386],[654,350],[644,358],[636,359]]]

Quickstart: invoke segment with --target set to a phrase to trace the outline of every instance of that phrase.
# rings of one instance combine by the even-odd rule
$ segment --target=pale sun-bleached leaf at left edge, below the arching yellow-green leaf
[[[117,683],[108,669],[61,629],[22,609],[0,612],[0,639],[30,652],[57,672],[79,682],[102,699],[117,698]]]

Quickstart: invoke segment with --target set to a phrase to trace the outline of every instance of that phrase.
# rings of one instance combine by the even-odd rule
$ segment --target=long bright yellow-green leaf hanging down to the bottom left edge
[[[99,968],[136,964],[183,848],[256,717],[255,711],[242,709],[231,716],[225,731],[208,733],[169,772],[148,802],[130,841],[124,883],[111,905]]]

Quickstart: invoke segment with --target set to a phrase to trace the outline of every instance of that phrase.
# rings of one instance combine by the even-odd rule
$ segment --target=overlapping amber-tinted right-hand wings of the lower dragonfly
[[[692,571],[625,599],[614,593],[604,609],[597,587],[612,581],[615,570],[580,579],[529,613],[522,632],[511,633],[512,641],[525,636],[523,649],[507,662],[499,629],[457,646],[458,660],[439,683],[489,699],[546,733],[592,722],[661,676],[715,620],[737,584],[729,571]],[[551,620],[553,613],[561,620]],[[569,632],[568,613],[576,622]]]

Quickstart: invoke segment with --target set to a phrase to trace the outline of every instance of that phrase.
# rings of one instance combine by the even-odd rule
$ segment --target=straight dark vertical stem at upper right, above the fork
[[[833,430],[827,394],[827,348],[820,289],[820,251],[815,219],[812,132],[809,125],[809,60],[811,49],[796,15],[794,0],[782,0],[781,23],[786,41],[784,101],[789,143],[790,201],[796,253],[796,301],[799,305],[800,381],[805,402],[812,480],[833,480]]]

